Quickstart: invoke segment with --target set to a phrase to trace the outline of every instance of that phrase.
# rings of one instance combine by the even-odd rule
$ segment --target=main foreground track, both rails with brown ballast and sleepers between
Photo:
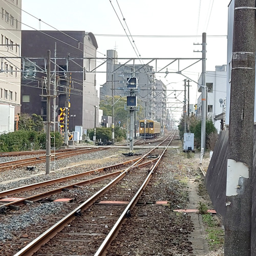
[[[17,252],[15,256],[32,255],[50,239],[50,244],[41,247],[35,255],[60,255],[61,253],[66,255],[67,253],[69,255],[78,253],[81,255],[81,251],[83,251],[82,255],[92,255],[93,253],[103,255],[116,236],[123,220],[129,216],[129,212],[136,205],[143,189],[160,163],[167,146],[162,151],[161,156],[154,160],[154,166],[150,170],[142,166],[142,168],[138,168],[138,165],[148,154],[156,151],[156,147],[140,159],[136,159],[137,161],[130,167],[119,172],[114,180],[69,212],[66,217]],[[157,151],[159,152],[159,150]],[[152,163],[153,161],[151,161]],[[144,164],[146,165],[146,163]],[[108,201],[121,201],[121,203],[114,206],[113,204],[104,204],[102,201],[105,198]],[[89,227],[90,232],[88,231]],[[81,234],[77,228],[82,228],[84,232]],[[60,230],[62,231],[60,232]],[[77,248],[77,242],[79,242],[79,248]],[[84,247],[87,248],[86,254],[84,254]],[[51,248],[54,248],[54,251],[51,251]]]

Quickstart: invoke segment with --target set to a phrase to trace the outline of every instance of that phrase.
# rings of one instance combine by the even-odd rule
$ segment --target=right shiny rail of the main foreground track
[[[174,138],[175,134],[173,135]],[[151,169],[150,173],[148,174],[148,176],[146,177],[145,181],[143,182],[143,184],[140,186],[139,190],[137,191],[137,193],[135,194],[135,196],[132,198],[132,200],[130,201],[130,203],[127,205],[127,207],[124,209],[124,211],[122,212],[121,216],[119,217],[119,219],[117,220],[117,222],[115,223],[115,225],[113,226],[113,228],[110,230],[108,236],[106,236],[106,238],[104,239],[103,243],[100,245],[99,249],[96,251],[96,253],[94,254],[94,256],[102,256],[106,254],[106,250],[108,249],[108,247],[110,246],[111,242],[115,239],[115,237],[117,236],[117,233],[119,232],[119,230],[121,229],[121,225],[124,221],[124,218],[127,214],[127,212],[129,212],[129,210],[131,211],[131,209],[136,205],[137,201],[139,200],[141,194],[143,193],[144,188],[146,187],[146,185],[148,184],[148,182],[151,179],[151,176],[153,175],[155,169],[158,167],[159,163],[161,162],[163,155],[165,153],[165,151],[167,150],[169,144],[173,141],[170,140],[170,142],[168,143],[168,145],[164,148],[163,153],[161,154],[161,156],[159,157],[159,159],[157,160],[156,164],[153,166],[153,168]]]

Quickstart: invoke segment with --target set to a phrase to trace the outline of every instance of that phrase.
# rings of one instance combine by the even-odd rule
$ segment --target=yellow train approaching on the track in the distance
[[[140,137],[155,138],[160,135],[160,123],[153,120],[140,120]]]

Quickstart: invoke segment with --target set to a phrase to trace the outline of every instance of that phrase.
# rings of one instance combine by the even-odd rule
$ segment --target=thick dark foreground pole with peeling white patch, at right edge
[[[226,256],[249,256],[251,233],[253,120],[255,91],[255,0],[234,1],[233,53],[227,160]],[[253,240],[251,240],[251,238]]]

